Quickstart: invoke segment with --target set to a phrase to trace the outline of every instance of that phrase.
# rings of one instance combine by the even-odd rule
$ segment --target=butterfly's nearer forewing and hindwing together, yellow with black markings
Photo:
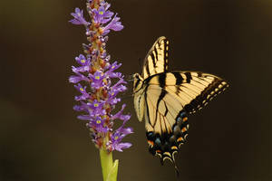
[[[207,105],[228,84],[217,76],[195,71],[159,73],[144,83],[150,151],[174,162],[173,154],[188,136],[187,115]]]

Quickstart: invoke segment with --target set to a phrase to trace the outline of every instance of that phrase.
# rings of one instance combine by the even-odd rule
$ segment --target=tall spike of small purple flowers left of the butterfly
[[[107,34],[121,31],[123,26],[120,17],[109,10],[111,5],[104,0],[87,0],[86,5],[90,21],[84,18],[83,10],[79,8],[75,8],[70,21],[72,24],[84,25],[89,42],[83,43],[85,55],[80,54],[75,58],[78,65],[72,66],[74,75],[69,78],[80,93],[74,98],[79,104],[73,110],[83,112],[78,119],[87,121],[86,126],[91,131],[96,148],[111,154],[113,150],[122,151],[131,147],[131,143],[121,142],[122,138],[132,133],[131,128],[125,128],[125,123],[131,118],[130,115],[122,114],[125,104],[120,111],[112,114],[115,105],[121,101],[117,95],[127,89],[127,82],[121,72],[116,72],[121,63],[110,62],[111,56],[105,49]],[[121,127],[113,130],[114,121],[118,119],[122,121]]]

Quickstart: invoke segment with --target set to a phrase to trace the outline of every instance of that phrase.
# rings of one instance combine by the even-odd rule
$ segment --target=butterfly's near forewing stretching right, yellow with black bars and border
[[[228,83],[219,77],[196,71],[162,72],[152,75],[144,83],[159,85],[170,94],[176,94],[188,113],[202,109],[228,87]]]

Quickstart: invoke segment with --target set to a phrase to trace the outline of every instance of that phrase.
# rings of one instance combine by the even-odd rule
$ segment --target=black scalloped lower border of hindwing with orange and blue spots
[[[153,131],[147,132],[149,151],[154,156],[159,156],[161,163],[166,158],[174,162],[174,154],[178,152],[180,146],[185,143],[188,136],[188,118],[184,111],[180,111],[176,118],[176,123],[172,126],[172,132],[164,132],[161,135]]]

